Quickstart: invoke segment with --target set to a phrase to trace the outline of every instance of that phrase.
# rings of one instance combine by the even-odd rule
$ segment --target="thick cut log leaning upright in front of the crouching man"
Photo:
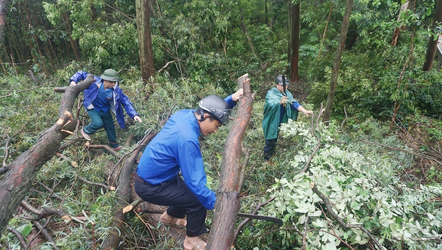
[[[238,79],[239,81],[242,80]],[[242,81],[242,84],[244,95],[238,102],[238,111],[222,153],[220,187],[216,195],[213,224],[206,249],[230,249],[233,244],[236,215],[240,209],[241,143],[250,121],[253,105],[250,81]]]

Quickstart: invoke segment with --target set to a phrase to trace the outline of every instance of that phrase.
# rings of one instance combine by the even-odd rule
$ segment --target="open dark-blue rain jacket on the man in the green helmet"
[[[75,81],[75,83],[78,84],[80,81],[86,79],[88,75],[89,73],[87,72],[79,71],[75,73],[72,77],[70,77],[69,83],[71,81]],[[95,75],[94,79],[95,81],[93,82],[93,84],[90,84],[90,86],[83,91],[84,92],[83,105],[87,110],[94,108],[92,102],[94,101],[95,98],[97,98],[98,90],[100,86],[102,86],[103,84],[103,79]],[[121,128],[126,128],[126,124],[124,122],[123,107],[126,110],[126,113],[132,119],[133,117],[135,117],[135,115],[138,115],[138,113],[133,108],[131,101],[129,101],[129,98],[126,95],[124,95],[123,90],[119,88],[118,83],[115,84],[115,86],[113,87],[113,102],[110,102],[110,105],[111,105],[111,111],[117,117],[117,122]]]

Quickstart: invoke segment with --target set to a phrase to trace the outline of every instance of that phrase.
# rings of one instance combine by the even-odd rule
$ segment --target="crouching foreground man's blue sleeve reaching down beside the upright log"
[[[189,138],[188,138],[189,139]],[[177,161],[180,164],[182,176],[186,186],[195,194],[196,198],[206,209],[213,209],[216,195],[207,186],[206,173],[202,164],[202,155],[198,140],[180,138],[177,147]]]

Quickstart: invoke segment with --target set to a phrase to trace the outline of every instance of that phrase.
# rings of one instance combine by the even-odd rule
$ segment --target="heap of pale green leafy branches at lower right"
[[[290,162],[291,168],[302,169],[316,146],[309,125],[289,123],[282,127],[282,132],[285,136],[302,137],[305,149],[294,153]],[[284,218],[287,229],[280,231],[284,238],[282,245],[297,246],[305,229],[309,249],[338,249],[341,241],[352,246],[370,241],[363,231],[345,228],[331,220],[323,200],[311,189],[315,185],[346,224],[369,229],[387,249],[401,249],[403,244],[407,249],[441,247],[436,242],[419,239],[438,235],[442,213],[435,198],[441,195],[442,188],[423,185],[411,188],[399,180],[394,171],[411,162],[411,155],[385,155],[382,148],[356,146],[355,142],[349,146],[332,144],[335,133],[333,126],[316,127],[315,135],[322,146],[314,153],[309,171],[278,178],[268,190],[275,200],[263,210]],[[385,138],[383,143],[400,145],[394,137]],[[290,229],[292,224],[296,230]]]

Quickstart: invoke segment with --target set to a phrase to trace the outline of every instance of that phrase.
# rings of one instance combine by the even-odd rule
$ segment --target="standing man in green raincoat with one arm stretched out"
[[[264,131],[265,146],[264,160],[267,161],[275,153],[278,130],[282,123],[289,119],[298,119],[298,111],[305,115],[313,115],[313,111],[306,110],[294,99],[287,90],[290,84],[284,75],[278,75],[275,80],[276,86],[267,91],[265,96],[264,119],[262,119],[262,130]]]

